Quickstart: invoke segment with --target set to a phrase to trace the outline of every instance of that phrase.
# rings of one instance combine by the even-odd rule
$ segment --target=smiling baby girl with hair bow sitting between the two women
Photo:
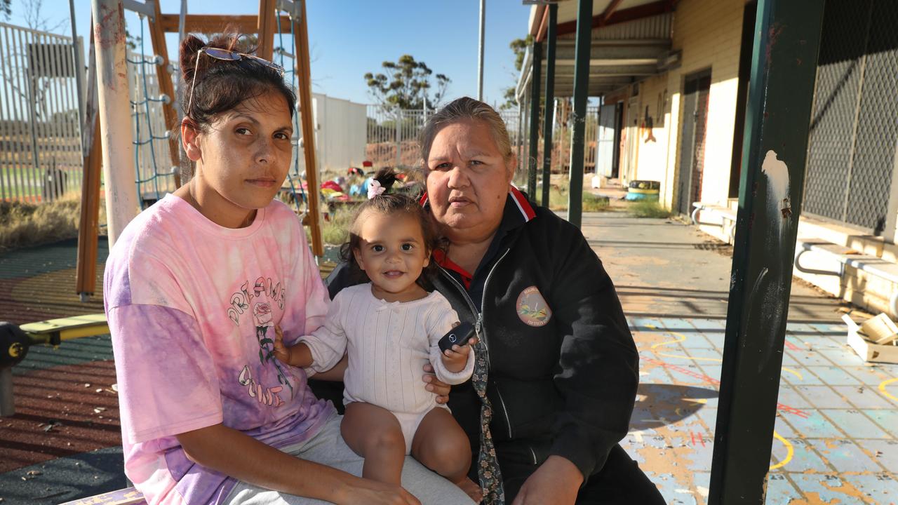
[[[299,343],[286,347],[277,331],[275,355],[322,372],[348,352],[340,430],[365,457],[363,476],[400,483],[402,461],[411,454],[461,485],[471,465],[468,438],[425,389],[419,370],[429,359],[437,378],[461,384],[471,377],[474,355],[471,345],[445,353],[437,346],[458,315],[443,295],[422,287],[436,235],[414,199],[386,192],[395,180],[392,171],[374,176],[341,250],[349,268],[369,282],[340,291],[324,325]]]

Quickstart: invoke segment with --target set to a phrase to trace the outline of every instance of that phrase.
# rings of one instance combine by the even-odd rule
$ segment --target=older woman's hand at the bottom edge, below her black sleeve
[[[573,505],[583,483],[583,474],[567,458],[549,456],[524,481],[512,505]]]

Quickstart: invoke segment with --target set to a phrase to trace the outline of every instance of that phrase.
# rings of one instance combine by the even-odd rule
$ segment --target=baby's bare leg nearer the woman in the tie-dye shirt
[[[405,438],[392,412],[371,403],[349,403],[340,433],[346,445],[365,458],[363,477],[382,483],[401,483]]]

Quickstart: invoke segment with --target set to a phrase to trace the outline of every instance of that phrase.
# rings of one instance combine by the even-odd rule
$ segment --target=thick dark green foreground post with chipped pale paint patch
[[[760,0],[709,505],[765,500],[823,0]]]

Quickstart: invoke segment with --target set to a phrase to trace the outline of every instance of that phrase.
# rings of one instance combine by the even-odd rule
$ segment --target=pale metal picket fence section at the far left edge
[[[72,39],[0,23],[0,55],[0,200],[47,201],[79,190]]]

